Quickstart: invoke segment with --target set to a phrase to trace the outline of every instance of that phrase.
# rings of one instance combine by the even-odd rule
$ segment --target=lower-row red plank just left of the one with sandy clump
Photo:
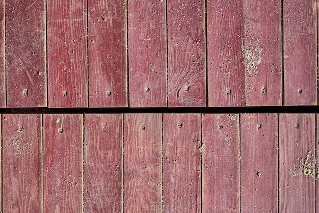
[[[278,212],[277,114],[241,115],[241,211]]]

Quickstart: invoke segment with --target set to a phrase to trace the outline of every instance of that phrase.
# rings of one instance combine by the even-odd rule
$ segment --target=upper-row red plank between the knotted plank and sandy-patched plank
[[[243,106],[244,0],[207,0],[208,107]]]

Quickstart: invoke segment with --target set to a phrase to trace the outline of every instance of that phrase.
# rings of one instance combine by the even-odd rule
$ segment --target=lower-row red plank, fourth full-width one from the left
[[[162,189],[162,115],[125,114],[125,212],[162,212]]]

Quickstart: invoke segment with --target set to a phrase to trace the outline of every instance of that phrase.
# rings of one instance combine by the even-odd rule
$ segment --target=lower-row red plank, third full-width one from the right
[[[239,116],[202,115],[202,212],[240,212]]]

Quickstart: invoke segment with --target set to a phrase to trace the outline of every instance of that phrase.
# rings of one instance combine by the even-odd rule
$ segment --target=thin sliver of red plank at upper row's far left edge
[[[6,107],[5,1],[0,1],[0,108]]]

